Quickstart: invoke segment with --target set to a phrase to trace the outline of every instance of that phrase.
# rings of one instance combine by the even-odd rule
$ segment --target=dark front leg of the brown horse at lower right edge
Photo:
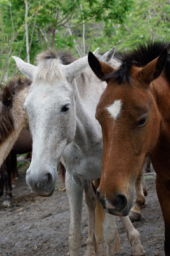
[[[170,256],[170,186],[167,180],[163,182],[159,179],[159,177],[157,177],[156,179],[156,186],[157,195],[159,198],[159,203],[162,209],[165,224],[165,254],[166,256]]]

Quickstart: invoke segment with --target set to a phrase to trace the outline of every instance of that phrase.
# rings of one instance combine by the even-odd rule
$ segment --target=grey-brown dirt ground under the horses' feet
[[[134,227],[141,234],[146,255],[164,256],[164,223],[155,191],[155,175],[145,175],[145,179],[148,188],[143,209],[145,219],[135,222]],[[66,191],[60,191],[62,188],[60,179],[50,198],[32,195],[25,184],[25,172],[20,168],[19,179],[13,189],[12,206],[0,207],[0,255],[69,255],[69,205]],[[121,243],[117,255],[131,255],[127,234],[120,220],[116,219]],[[87,207],[83,200],[81,255],[86,249],[87,228]]]

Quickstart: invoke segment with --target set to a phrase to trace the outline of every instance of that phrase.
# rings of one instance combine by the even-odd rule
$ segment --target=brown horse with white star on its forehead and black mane
[[[89,52],[89,65],[108,86],[97,105],[103,131],[103,171],[97,196],[106,212],[126,216],[136,179],[150,156],[170,255],[170,54],[166,42],[122,54],[117,70]]]

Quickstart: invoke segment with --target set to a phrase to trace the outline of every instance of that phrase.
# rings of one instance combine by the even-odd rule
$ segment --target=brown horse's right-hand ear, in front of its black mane
[[[138,79],[141,83],[148,86],[154,79],[160,76],[167,61],[167,48],[161,52],[160,56],[150,61],[141,71],[138,73]]]

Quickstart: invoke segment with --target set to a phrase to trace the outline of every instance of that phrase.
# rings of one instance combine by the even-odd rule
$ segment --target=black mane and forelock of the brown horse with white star
[[[168,47],[168,42],[155,40],[154,42],[147,42],[139,44],[136,49],[129,52],[116,52],[115,58],[122,62],[120,68],[104,77],[104,81],[113,78],[118,83],[131,82],[131,67],[145,67],[150,61],[157,58],[165,47]],[[166,74],[170,80],[170,52],[168,52],[166,63]]]

